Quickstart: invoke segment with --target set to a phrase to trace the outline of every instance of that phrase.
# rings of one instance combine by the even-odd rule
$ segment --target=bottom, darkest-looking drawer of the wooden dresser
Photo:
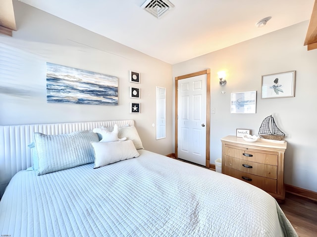
[[[276,179],[265,178],[224,166],[224,174],[241,179],[268,193],[276,194]]]

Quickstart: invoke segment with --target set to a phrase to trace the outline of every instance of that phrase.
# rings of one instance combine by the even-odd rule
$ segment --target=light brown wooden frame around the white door
[[[175,77],[175,157],[178,158],[178,80],[207,75],[207,101],[206,101],[206,167],[210,167],[210,69]]]

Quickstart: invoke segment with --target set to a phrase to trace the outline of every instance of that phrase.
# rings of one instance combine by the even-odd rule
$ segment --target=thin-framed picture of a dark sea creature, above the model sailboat
[[[295,96],[295,73],[289,71],[262,76],[262,99]]]

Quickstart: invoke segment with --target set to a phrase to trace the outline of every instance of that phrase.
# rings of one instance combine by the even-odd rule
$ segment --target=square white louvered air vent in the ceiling
[[[146,0],[141,7],[159,18],[174,5],[168,0]]]

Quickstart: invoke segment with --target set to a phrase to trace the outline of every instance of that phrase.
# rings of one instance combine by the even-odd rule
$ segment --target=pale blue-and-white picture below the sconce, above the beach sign
[[[231,114],[255,114],[257,91],[231,93]]]

